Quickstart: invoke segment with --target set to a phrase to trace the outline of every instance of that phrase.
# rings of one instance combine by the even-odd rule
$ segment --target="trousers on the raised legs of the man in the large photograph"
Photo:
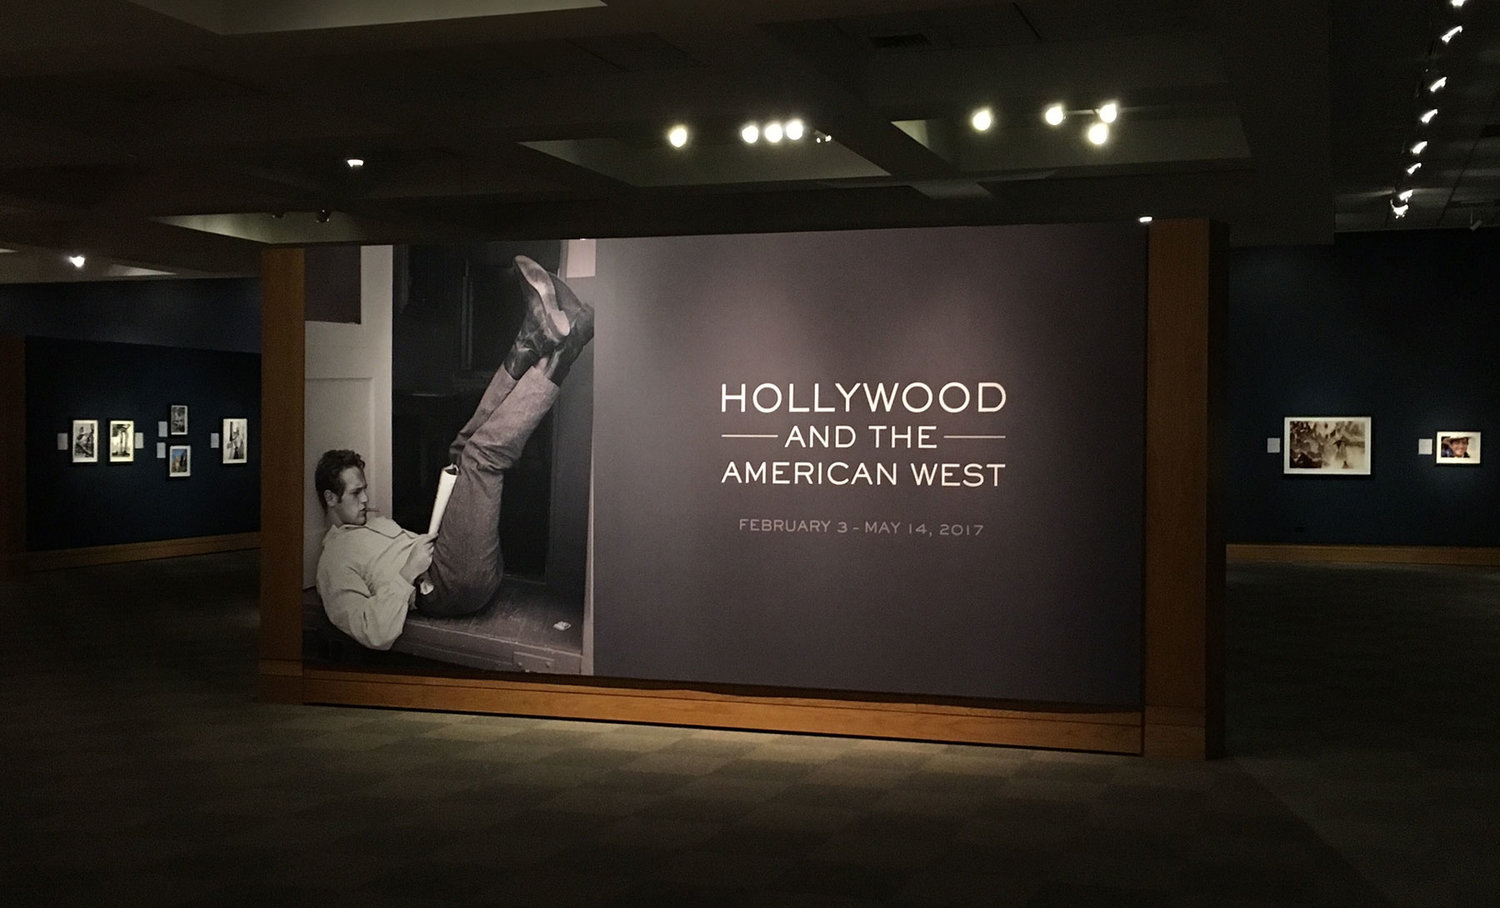
[[[434,590],[418,599],[424,614],[477,612],[500,591],[504,575],[500,500],[506,470],[516,464],[556,396],[558,386],[537,369],[526,371],[519,381],[496,369],[474,416],[459,429],[450,447],[459,476],[428,569]]]

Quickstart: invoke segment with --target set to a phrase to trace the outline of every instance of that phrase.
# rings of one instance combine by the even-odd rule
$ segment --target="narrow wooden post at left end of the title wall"
[[[267,665],[302,662],[303,327],[302,249],[261,257],[261,671],[262,699],[298,702],[300,680]]]

